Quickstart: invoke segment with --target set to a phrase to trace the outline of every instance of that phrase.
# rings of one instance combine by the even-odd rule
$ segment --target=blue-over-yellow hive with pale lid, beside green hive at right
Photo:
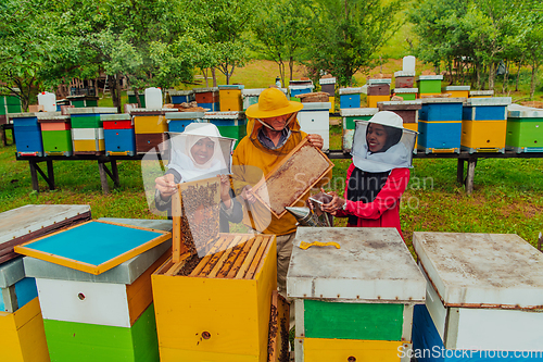
[[[510,102],[510,97],[468,98],[462,117],[462,149],[504,153]]]

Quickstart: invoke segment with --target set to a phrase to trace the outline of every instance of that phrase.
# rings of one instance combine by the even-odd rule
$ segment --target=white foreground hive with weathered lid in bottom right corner
[[[413,245],[428,278],[414,349],[441,351],[418,361],[541,360],[540,251],[512,234],[417,232]]]

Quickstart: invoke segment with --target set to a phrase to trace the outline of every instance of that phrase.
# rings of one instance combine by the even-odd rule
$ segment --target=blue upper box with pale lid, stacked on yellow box
[[[468,98],[464,103],[464,121],[505,121],[510,97]]]

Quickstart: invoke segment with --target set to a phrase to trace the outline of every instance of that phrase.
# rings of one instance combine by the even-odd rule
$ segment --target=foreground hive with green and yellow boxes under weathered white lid
[[[394,228],[299,227],[287,295],[294,299],[295,360],[401,361],[426,280]],[[408,361],[403,359],[402,361]]]

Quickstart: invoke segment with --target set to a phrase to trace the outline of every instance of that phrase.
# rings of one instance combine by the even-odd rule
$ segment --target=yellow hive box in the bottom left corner
[[[38,298],[13,313],[0,312],[0,351],[2,361],[49,362]]]

